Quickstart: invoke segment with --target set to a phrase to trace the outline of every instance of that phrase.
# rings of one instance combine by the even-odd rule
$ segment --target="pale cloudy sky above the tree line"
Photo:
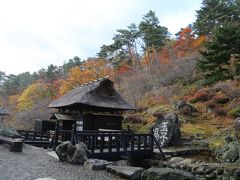
[[[0,71],[34,72],[94,57],[117,29],[153,10],[171,34],[196,19],[202,0],[0,0]]]

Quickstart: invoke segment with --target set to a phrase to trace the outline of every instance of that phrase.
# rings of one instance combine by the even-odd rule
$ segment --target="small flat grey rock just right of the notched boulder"
[[[105,170],[107,165],[112,165],[112,162],[101,159],[88,159],[84,162],[84,167],[93,171]]]

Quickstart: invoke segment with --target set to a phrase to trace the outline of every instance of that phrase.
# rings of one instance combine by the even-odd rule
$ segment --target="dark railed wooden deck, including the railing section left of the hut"
[[[24,138],[24,143],[38,147],[50,147],[60,143],[48,133],[34,131],[18,131]],[[61,132],[61,131],[59,131]],[[156,155],[154,147],[158,149],[157,156],[164,157],[159,143],[153,134],[134,134],[125,131],[81,131],[71,132],[71,142],[83,142],[90,151],[91,158],[98,159],[144,159]],[[63,136],[63,132],[59,135]],[[56,135],[56,134],[55,134]]]

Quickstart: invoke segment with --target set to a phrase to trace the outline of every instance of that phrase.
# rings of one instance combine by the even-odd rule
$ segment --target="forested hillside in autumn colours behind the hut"
[[[149,11],[140,22],[117,29],[95,57],[75,56],[34,73],[0,72],[0,105],[11,111],[6,123],[31,129],[34,119],[49,118],[53,99],[109,76],[137,107],[125,126],[147,131],[154,113],[174,111],[174,103],[183,100],[198,110],[178,112],[186,122],[183,133],[218,136],[218,126],[225,132],[240,113],[240,1],[203,0],[196,17],[173,35]]]

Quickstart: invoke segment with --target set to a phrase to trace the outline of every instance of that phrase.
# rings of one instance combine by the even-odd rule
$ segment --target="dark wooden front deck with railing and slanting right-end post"
[[[152,134],[134,134],[119,131],[85,131],[74,133],[73,143],[84,142],[92,158],[144,159],[152,157],[154,144]],[[159,144],[159,155],[164,157]]]

